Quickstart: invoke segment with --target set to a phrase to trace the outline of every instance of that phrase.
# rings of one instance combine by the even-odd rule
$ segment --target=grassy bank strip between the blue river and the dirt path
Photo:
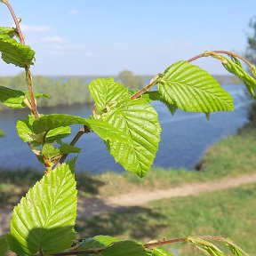
[[[256,108],[256,107],[254,107]],[[240,129],[236,135],[228,136],[208,148],[198,172],[185,169],[172,170],[153,168],[148,176],[140,179],[132,173],[105,172],[99,175],[76,173],[77,188],[81,198],[106,198],[127,194],[131,191],[154,191],[177,188],[185,183],[218,180],[255,172],[256,156],[256,109],[250,114],[251,123]],[[0,207],[12,208],[43,173],[34,170],[0,172]]]

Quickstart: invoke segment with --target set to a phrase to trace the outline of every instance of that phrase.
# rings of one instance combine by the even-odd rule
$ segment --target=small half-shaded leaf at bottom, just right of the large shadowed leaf
[[[108,245],[119,242],[120,239],[112,236],[93,236],[90,238],[84,239],[78,250],[98,250],[105,249]]]

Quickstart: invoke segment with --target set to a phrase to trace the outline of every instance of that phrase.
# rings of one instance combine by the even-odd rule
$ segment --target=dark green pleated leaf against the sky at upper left
[[[34,64],[35,52],[28,46],[18,43],[7,35],[0,35],[0,52],[5,63],[12,63],[20,68]]]

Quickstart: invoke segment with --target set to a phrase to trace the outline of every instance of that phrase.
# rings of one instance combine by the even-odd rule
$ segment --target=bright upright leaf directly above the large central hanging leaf
[[[115,105],[117,102],[130,98],[128,89],[122,84],[118,84],[113,78],[98,78],[89,84],[92,99],[96,108],[101,112],[105,108]],[[106,112],[106,111],[105,111]]]

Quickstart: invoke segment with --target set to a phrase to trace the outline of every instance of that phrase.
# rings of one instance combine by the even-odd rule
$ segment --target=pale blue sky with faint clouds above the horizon
[[[241,53],[255,0],[10,0],[26,44],[36,51],[35,75],[155,75],[205,50]],[[13,21],[0,4],[0,26]],[[226,74],[217,60],[195,64]],[[0,62],[0,76],[20,73]]]

